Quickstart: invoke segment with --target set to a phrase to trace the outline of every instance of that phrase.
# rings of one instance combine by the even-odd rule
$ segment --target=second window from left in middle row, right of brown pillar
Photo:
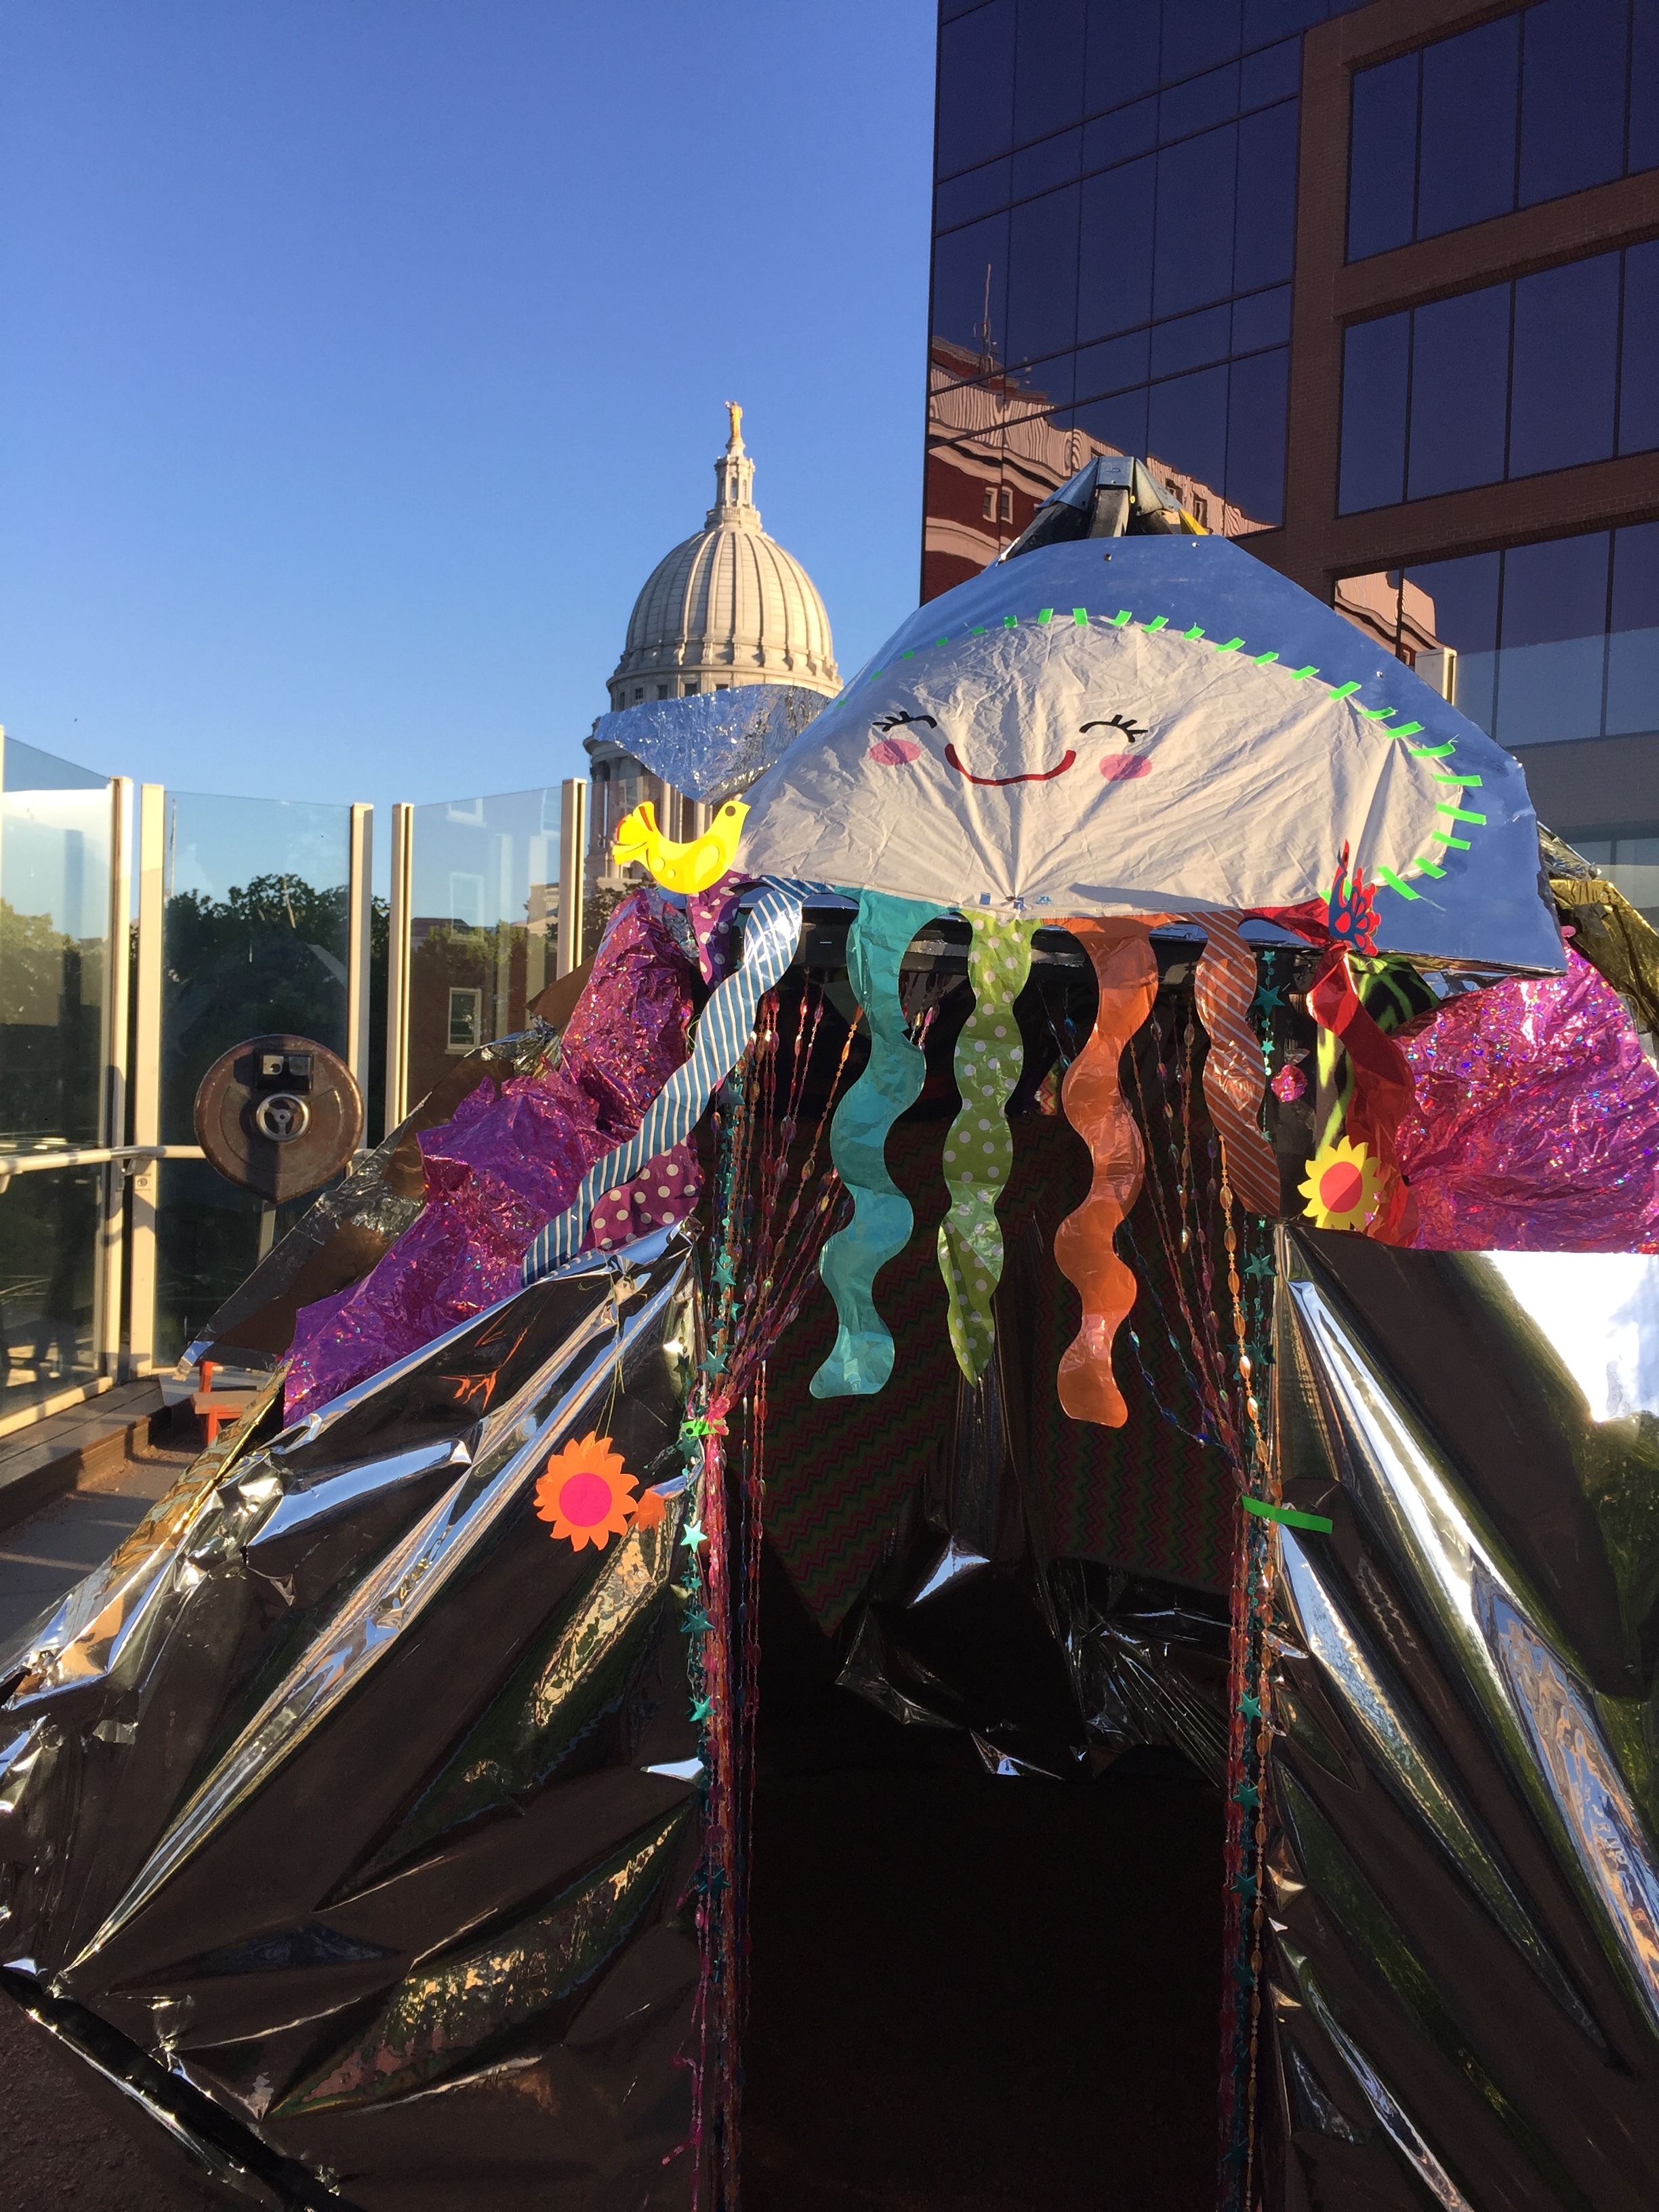
[[[1509,285],[1418,307],[1411,330],[1407,498],[1495,484],[1504,473]]]

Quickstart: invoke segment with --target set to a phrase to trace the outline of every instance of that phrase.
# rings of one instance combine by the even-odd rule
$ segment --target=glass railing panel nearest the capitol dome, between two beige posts
[[[524,1029],[553,982],[560,787],[414,807],[407,1099]]]

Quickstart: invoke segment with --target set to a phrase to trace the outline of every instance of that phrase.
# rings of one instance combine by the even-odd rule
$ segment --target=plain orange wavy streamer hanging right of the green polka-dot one
[[[1062,927],[1077,938],[1095,967],[1099,1013],[1095,1033],[1073,1060],[1060,1088],[1066,1119],[1095,1161],[1088,1197],[1055,1230],[1055,1265],[1077,1285],[1084,1301],[1084,1325],[1060,1360],[1060,1402],[1073,1420],[1121,1429],[1128,1407],[1113,1380],[1113,1338],[1135,1305],[1137,1285],[1113,1239],[1139,1197],[1146,1152],[1128,1102],[1117,1088],[1117,1064],[1152,1011],[1157,960],[1148,936],[1150,922],[1088,918]]]

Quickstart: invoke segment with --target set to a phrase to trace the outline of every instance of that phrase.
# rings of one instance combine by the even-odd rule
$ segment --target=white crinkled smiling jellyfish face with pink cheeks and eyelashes
[[[1225,635],[1004,617],[821,714],[750,792],[743,865],[942,907],[1148,914],[1323,898],[1347,841],[1367,876],[1431,894],[1440,768]]]

